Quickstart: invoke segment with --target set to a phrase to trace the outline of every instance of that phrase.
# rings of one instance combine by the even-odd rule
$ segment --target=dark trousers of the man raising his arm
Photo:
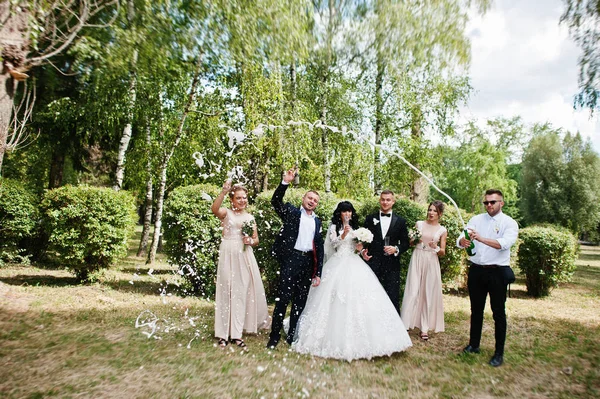
[[[283,328],[283,319],[285,318],[285,313],[290,302],[292,302],[292,310],[290,313],[290,328],[287,334],[287,342],[291,344],[294,340],[298,319],[308,299],[308,291],[310,290],[313,275],[313,263],[314,261],[311,256],[304,256],[297,252],[293,252],[291,256],[283,259],[281,270],[291,270],[295,273],[281,274],[277,298],[275,300],[275,309],[273,310],[270,342],[279,342],[281,329]]]

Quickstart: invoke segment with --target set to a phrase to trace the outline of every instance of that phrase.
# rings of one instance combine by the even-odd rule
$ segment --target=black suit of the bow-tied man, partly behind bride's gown
[[[400,255],[406,252],[410,243],[406,220],[392,212],[390,228],[386,236],[390,238],[390,245],[398,248],[398,256],[386,256],[383,252],[384,237],[381,233],[381,220],[379,211],[365,219],[365,227],[373,233],[373,242],[369,244],[369,255],[372,258],[367,262],[381,285],[387,292],[390,300],[399,311],[400,308]]]

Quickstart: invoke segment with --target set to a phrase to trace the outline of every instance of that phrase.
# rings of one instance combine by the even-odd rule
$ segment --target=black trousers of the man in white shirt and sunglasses
[[[471,300],[471,333],[469,345],[479,348],[481,330],[483,328],[483,311],[487,294],[490,294],[490,305],[494,316],[494,335],[496,338],[496,354],[504,355],[506,342],[506,287],[502,269],[484,268],[477,265],[469,267],[469,299]]]

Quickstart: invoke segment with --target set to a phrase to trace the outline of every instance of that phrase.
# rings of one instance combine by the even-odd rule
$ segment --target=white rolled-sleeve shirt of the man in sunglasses
[[[475,215],[467,223],[467,229],[475,230],[483,238],[497,240],[500,249],[492,248],[479,241],[475,243],[475,256],[469,260],[478,265],[510,265],[510,247],[512,247],[519,236],[519,225],[513,218],[500,211],[496,216],[491,217],[487,213]],[[456,240],[456,245],[461,247],[459,241],[462,236]]]

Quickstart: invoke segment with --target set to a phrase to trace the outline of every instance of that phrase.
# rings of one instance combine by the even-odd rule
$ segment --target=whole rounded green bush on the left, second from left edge
[[[42,201],[48,250],[79,281],[127,255],[136,221],[135,202],[126,191],[64,186],[47,191]]]

